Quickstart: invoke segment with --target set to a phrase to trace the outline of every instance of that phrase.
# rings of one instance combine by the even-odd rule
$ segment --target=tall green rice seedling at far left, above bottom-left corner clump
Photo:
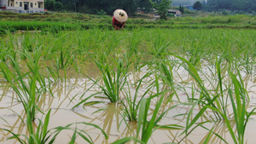
[[[38,50],[37,53],[33,55],[33,58],[29,53],[21,53],[21,55],[26,55],[26,66],[28,67],[29,72],[22,72],[22,68],[20,67],[18,62],[15,61],[15,59],[11,55],[9,55],[9,59],[12,60],[12,63],[14,64],[17,76],[9,75],[8,77],[9,79],[13,78],[11,87],[15,90],[15,93],[18,95],[19,101],[22,103],[26,111],[26,120],[33,121],[35,119],[36,109],[40,112],[40,108],[37,106],[37,101],[40,99],[40,94],[43,90],[38,88],[37,85],[37,82],[41,83],[41,81],[38,81],[40,69],[38,60],[40,59],[40,51]],[[6,66],[3,68],[1,67],[1,69],[5,71]],[[29,129],[32,130],[32,128]]]

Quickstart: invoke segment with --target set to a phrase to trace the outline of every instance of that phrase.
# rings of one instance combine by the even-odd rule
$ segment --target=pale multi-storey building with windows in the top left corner
[[[44,0],[0,0],[0,11],[44,13]]]

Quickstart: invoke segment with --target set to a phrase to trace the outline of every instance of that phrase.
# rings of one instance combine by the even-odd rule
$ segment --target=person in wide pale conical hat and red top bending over
[[[113,12],[112,26],[115,30],[124,28],[125,21],[128,19],[128,15],[123,9],[116,9]]]

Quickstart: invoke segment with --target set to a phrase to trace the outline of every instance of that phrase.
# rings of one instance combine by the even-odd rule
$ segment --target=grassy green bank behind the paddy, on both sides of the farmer
[[[0,13],[0,32],[79,30],[90,28],[112,29],[109,15],[78,13],[16,14]],[[126,29],[131,28],[256,28],[256,17],[252,15],[206,15],[169,17],[155,20],[149,15],[138,14],[126,21]]]

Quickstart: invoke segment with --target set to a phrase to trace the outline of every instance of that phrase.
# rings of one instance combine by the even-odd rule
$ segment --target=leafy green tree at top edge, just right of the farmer
[[[157,10],[158,14],[160,14],[160,19],[161,20],[167,20],[166,14],[167,10],[170,9],[170,4],[172,1],[169,0],[162,0],[160,3],[157,2],[152,2],[153,8]]]

